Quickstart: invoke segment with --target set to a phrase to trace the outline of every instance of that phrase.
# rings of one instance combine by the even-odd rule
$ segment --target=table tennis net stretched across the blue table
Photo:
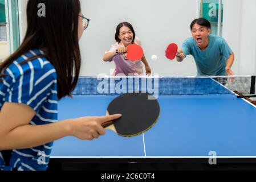
[[[119,95],[148,92],[159,96],[255,94],[255,76],[84,76],[74,95]]]

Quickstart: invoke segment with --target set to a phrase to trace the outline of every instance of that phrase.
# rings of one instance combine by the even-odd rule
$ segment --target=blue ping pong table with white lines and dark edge
[[[123,79],[128,83],[128,78]],[[136,85],[136,79],[139,79],[140,90],[147,89],[140,87],[147,78],[132,79],[134,82],[123,86],[127,92],[129,85]],[[99,93],[100,81],[80,78],[74,97],[59,101],[59,120],[105,115],[108,104],[120,93],[111,93],[111,88],[107,88],[108,94]],[[66,164],[67,169],[90,169],[89,163],[99,168],[106,164],[104,169],[111,169],[109,164],[112,164],[113,169],[119,170],[120,164],[131,164],[132,169],[139,168],[139,164],[140,169],[177,169],[174,164],[183,164],[184,169],[188,166],[196,169],[199,164],[215,169],[225,168],[227,164],[255,166],[256,108],[253,104],[237,98],[213,78],[159,78],[157,83],[152,83],[159,87],[157,100],[161,108],[152,129],[131,138],[107,130],[104,136],[92,141],[75,137],[56,140],[50,167],[55,163]],[[119,79],[113,85],[117,84],[120,86]],[[132,89],[136,90],[135,87]],[[184,92],[181,93],[181,89],[185,89]],[[150,167],[151,164],[156,165]]]

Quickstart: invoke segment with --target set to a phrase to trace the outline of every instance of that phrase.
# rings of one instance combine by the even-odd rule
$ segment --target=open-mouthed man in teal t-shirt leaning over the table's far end
[[[204,18],[193,20],[190,24],[192,37],[186,39],[182,48],[178,49],[177,61],[192,55],[197,65],[198,76],[234,75],[231,66],[234,53],[226,40],[220,36],[210,35],[210,22]]]

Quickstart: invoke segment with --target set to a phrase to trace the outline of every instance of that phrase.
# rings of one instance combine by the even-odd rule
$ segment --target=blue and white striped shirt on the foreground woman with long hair
[[[0,109],[5,102],[30,106],[36,113],[30,125],[46,125],[58,119],[57,76],[52,64],[44,57],[19,64],[29,57],[42,53],[39,49],[32,49],[19,57],[6,69],[7,76],[0,82]],[[3,170],[12,168],[21,171],[46,170],[52,144],[53,142],[23,150],[13,150],[10,166],[5,166],[0,152],[0,167]]]

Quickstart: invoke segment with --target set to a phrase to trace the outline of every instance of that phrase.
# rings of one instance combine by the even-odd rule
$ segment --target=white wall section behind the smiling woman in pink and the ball
[[[117,24],[127,21],[141,39],[152,72],[160,75],[196,75],[192,57],[183,63],[165,58],[165,48],[190,36],[190,23],[198,16],[198,0],[94,0],[82,1],[84,16],[91,19],[81,40],[82,75],[107,73],[114,63],[102,61],[104,52],[115,43]],[[158,60],[152,61],[151,56]]]

